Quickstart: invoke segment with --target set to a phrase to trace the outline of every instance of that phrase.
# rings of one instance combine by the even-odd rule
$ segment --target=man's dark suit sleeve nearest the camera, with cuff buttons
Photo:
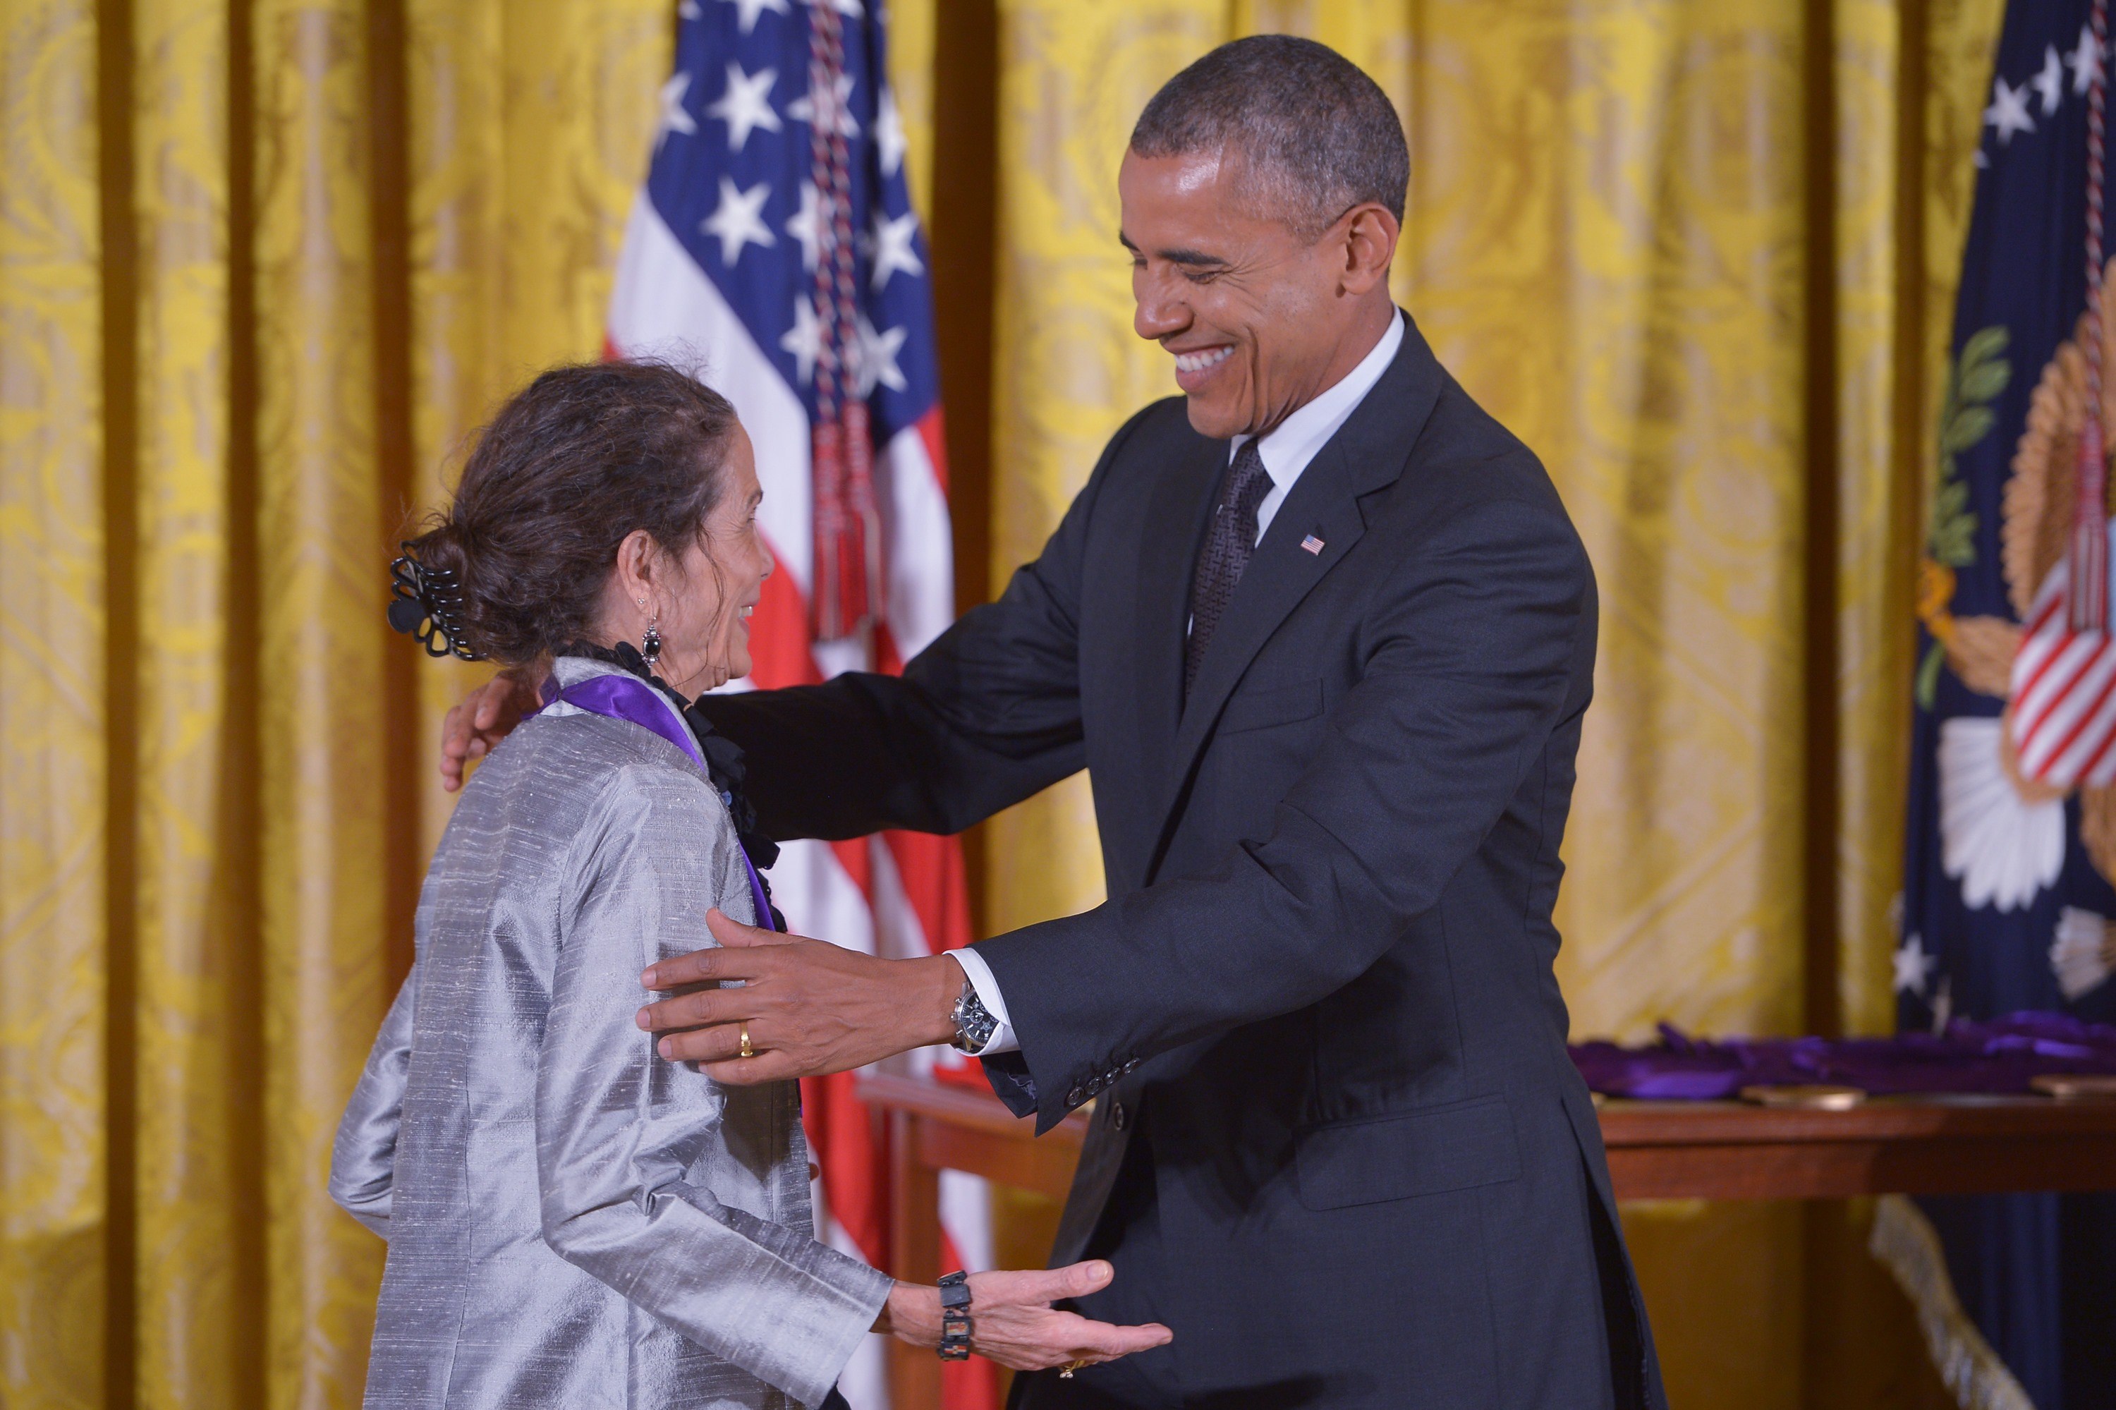
[[[1306,1008],[1367,972],[1439,902],[1585,705],[1593,612],[1585,550],[1557,506],[1456,514],[1369,610],[1363,675],[1267,836],[1204,874],[980,942],[1039,1126],[1157,1052]]]

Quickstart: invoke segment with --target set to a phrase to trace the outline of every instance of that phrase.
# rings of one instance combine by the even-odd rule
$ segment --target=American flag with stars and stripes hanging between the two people
[[[609,356],[690,362],[758,453],[779,572],[736,688],[897,671],[954,614],[933,288],[904,182],[878,0],[683,0],[652,167],[609,303]],[[806,936],[882,955],[969,940],[952,838],[791,843],[774,900]],[[952,1054],[912,1054],[931,1069]],[[851,1075],[810,1082],[817,1228],[889,1264],[889,1152]],[[946,1266],[990,1266],[982,1181],[946,1175]],[[944,1404],[997,1404],[982,1359]],[[846,1368],[855,1410],[889,1404],[880,1338]],[[912,1410],[912,1408],[899,1408]]]

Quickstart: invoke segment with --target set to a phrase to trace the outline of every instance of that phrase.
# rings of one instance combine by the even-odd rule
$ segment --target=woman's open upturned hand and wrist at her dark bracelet
[[[1009,1370],[1045,1370],[1115,1361],[1174,1340],[1174,1332],[1157,1321],[1117,1327],[1052,1308],[1060,1298],[1109,1287],[1111,1277],[1113,1268],[1100,1260],[1047,1272],[971,1272],[969,1349]],[[874,1330],[912,1346],[940,1346],[940,1289],[897,1283]]]

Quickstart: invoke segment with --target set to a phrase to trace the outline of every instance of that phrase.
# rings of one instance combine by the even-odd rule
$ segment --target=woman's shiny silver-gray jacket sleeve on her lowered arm
[[[667,771],[624,771],[567,879],[552,1006],[537,1056],[535,1143],[544,1241],[681,1336],[804,1406],[829,1393],[874,1325],[891,1279],[808,1232],[690,1181],[724,1111],[722,1088],[664,1063],[633,1023],[639,970],[711,944],[730,902],[734,836]],[[698,855],[711,834],[711,860]],[[777,1167],[800,1162],[779,1133]],[[772,1188],[806,1192],[806,1169]],[[781,1179],[785,1175],[785,1179]]]

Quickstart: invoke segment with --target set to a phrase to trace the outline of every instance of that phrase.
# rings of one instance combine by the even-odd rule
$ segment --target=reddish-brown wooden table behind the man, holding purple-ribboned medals
[[[1088,1135],[1075,1111],[1041,1139],[990,1092],[861,1078],[891,1128],[891,1272],[940,1277],[940,1173],[969,1171],[1062,1200]],[[1602,1141],[1617,1198],[1849,1198],[2116,1190],[2116,1101],[1879,1097],[1849,1111],[1741,1101],[1610,1101]],[[940,1404],[940,1361],[891,1349],[891,1404]]]

